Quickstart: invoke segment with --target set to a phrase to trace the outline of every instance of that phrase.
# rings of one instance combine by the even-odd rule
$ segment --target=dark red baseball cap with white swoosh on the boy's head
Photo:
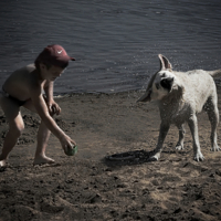
[[[50,69],[52,65],[65,69],[69,65],[69,61],[75,61],[74,57],[67,55],[64,48],[59,44],[48,45],[36,57],[34,64],[40,69],[40,63],[46,65]]]

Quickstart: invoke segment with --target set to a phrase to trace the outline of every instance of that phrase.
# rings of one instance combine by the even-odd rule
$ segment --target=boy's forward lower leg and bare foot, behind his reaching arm
[[[46,145],[50,138],[51,131],[48,129],[48,127],[44,125],[43,122],[41,122],[41,125],[39,127],[38,136],[36,136],[36,151],[34,157],[33,165],[42,165],[42,164],[53,164],[54,160],[46,157],[45,149]]]

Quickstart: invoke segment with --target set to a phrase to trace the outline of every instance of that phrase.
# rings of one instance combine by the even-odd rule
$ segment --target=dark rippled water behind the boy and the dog
[[[145,88],[159,69],[221,69],[220,0],[1,0],[0,85],[48,44],[71,56],[55,94]]]

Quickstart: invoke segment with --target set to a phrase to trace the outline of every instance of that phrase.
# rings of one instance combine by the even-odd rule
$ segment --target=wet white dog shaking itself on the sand
[[[204,159],[199,143],[197,114],[204,109],[211,124],[212,151],[221,150],[217,144],[219,109],[217,87],[212,76],[221,76],[221,70],[188,72],[172,71],[169,60],[159,54],[160,70],[150,77],[146,93],[137,102],[158,101],[160,130],[157,147],[149,160],[158,160],[162,144],[171,124],[179,129],[177,150],[183,149],[185,123],[189,125],[193,139],[193,159]]]

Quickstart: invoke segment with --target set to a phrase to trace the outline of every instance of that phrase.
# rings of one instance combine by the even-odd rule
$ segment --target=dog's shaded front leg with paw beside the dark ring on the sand
[[[154,150],[154,155],[149,158],[149,161],[156,161],[160,158],[160,154],[162,151],[162,144],[165,141],[165,137],[167,136],[169,127],[170,124],[168,122],[161,122],[157,147]]]

